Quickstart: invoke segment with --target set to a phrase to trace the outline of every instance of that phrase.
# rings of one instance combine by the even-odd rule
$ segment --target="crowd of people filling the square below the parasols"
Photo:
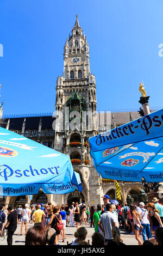
[[[65,242],[66,227],[76,226],[71,245],[124,246],[120,230],[135,235],[138,245],[163,245],[163,205],[159,204],[159,199],[153,198],[147,205],[143,202],[115,205],[105,194],[103,203],[97,205],[96,211],[95,206],[78,202],[70,206],[39,204],[31,208],[25,204],[17,209],[0,205],[0,235],[7,229],[7,243],[12,245],[12,236],[20,224],[20,235],[24,229],[26,245],[59,245],[60,235]],[[34,223],[33,227],[28,228],[29,223]],[[86,239],[87,229],[83,224],[95,228],[91,242]]]

